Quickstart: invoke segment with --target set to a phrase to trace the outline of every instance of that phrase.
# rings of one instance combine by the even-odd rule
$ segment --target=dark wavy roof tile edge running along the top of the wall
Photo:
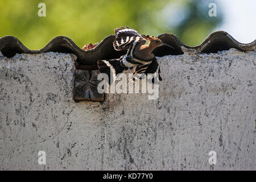
[[[255,51],[256,40],[243,44],[234,39],[225,31],[215,31],[210,34],[199,46],[190,47],[182,43],[177,36],[171,33],[163,33],[158,36],[164,43],[170,44],[175,49],[168,47],[158,47],[154,50],[156,56],[181,55],[184,52],[190,53],[216,53],[218,51],[237,48],[241,51]],[[42,52],[62,52],[73,53],[77,56],[77,63],[80,65],[96,65],[97,60],[113,59],[125,53],[125,51],[115,51],[113,48],[114,35],[106,36],[98,46],[90,50],[83,50],[66,36],[56,36],[51,39],[46,46],[39,50],[31,50],[14,36],[3,36],[0,38],[0,51],[4,56],[13,57],[16,53],[42,53]]]

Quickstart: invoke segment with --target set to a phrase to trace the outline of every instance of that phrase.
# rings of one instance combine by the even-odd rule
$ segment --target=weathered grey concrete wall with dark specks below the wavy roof
[[[109,94],[103,104],[72,100],[68,54],[2,57],[0,167],[255,170],[255,57],[236,49],[162,57],[158,100]]]

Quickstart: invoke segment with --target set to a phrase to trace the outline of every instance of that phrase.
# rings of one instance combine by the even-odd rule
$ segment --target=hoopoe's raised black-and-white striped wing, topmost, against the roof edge
[[[113,42],[114,49],[117,51],[129,49],[131,44],[139,43],[144,41],[146,43],[146,39],[144,39],[141,34],[139,34],[136,30],[130,27],[121,27],[115,28],[115,40]]]

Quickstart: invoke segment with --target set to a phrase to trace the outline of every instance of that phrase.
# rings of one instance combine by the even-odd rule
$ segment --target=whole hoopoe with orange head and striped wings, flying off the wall
[[[152,51],[159,46],[168,46],[173,49],[174,47],[163,43],[154,36],[141,35],[136,30],[127,26],[115,28],[114,31],[114,49],[117,51],[127,50],[127,53],[119,59],[97,61],[100,73],[106,73],[108,75],[109,84],[112,84],[117,78],[118,73],[133,68],[135,68],[133,80],[143,78],[143,76],[146,76],[148,73],[158,73],[158,79],[162,81],[162,77],[159,75],[159,64]],[[144,45],[147,40],[149,44]],[[154,82],[155,77],[152,78],[152,83]]]

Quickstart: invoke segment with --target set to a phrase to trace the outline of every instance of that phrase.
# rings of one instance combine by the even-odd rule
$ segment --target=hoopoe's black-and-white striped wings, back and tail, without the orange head
[[[122,73],[126,69],[133,69],[134,67],[133,79],[142,78],[142,73],[145,75],[148,73],[160,73],[159,64],[155,57],[150,60],[142,60],[134,55],[135,47],[146,43],[146,39],[141,34],[127,26],[116,28],[114,31],[114,49],[117,51],[127,50],[127,53],[119,59],[98,60],[99,71],[109,76],[109,84],[112,84],[118,73]],[[110,72],[112,75],[110,75]],[[162,80],[160,75],[159,80]],[[154,81],[155,78],[152,78],[152,83]]]

